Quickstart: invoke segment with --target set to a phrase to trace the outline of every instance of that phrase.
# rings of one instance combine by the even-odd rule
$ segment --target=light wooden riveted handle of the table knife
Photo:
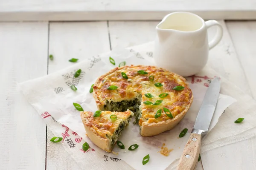
[[[200,153],[202,136],[191,133],[189,140],[180,157],[177,170],[194,170]]]

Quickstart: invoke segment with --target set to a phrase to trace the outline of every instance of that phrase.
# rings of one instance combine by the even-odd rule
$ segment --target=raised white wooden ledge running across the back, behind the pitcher
[[[161,20],[173,11],[194,12],[204,19],[256,19],[254,0],[1,0],[1,21]]]

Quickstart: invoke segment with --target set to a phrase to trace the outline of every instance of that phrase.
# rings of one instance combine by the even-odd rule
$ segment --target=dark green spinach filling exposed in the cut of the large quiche
[[[138,124],[140,120],[140,102],[141,102],[141,95],[139,96],[139,99],[135,98],[134,100],[122,100],[121,102],[107,102],[106,105],[104,105],[105,111],[118,111],[118,112],[124,112],[129,109],[134,113],[135,116],[135,122],[134,124]]]

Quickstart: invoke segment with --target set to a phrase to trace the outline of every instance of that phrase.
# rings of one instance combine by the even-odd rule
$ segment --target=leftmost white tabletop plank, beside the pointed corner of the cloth
[[[0,23],[0,165],[45,169],[46,125],[17,83],[47,74],[48,23]]]

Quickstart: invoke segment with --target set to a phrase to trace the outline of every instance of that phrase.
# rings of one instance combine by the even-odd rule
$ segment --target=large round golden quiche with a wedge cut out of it
[[[101,111],[134,112],[142,136],[175,127],[193,101],[185,78],[144,65],[117,67],[102,75],[93,86],[93,97]]]

